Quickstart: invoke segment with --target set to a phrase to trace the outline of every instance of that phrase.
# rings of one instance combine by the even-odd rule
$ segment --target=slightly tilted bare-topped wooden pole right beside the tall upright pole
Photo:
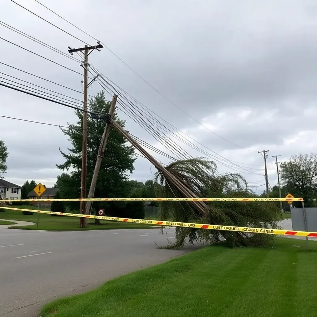
[[[115,107],[116,107],[116,103],[117,103],[117,98],[118,96],[116,94],[113,95],[112,101],[111,101],[111,105],[110,105],[110,109],[109,109],[109,116],[113,117],[114,115],[114,111],[115,111]],[[96,119],[103,119],[100,117],[96,117]],[[105,125],[105,130],[103,132],[102,135],[102,139],[100,142],[100,146],[99,146],[99,150],[98,150],[98,154],[97,154],[97,160],[96,160],[96,164],[95,164],[95,169],[94,169],[94,174],[93,174],[93,178],[91,180],[91,184],[90,184],[90,188],[89,188],[89,193],[87,198],[93,198],[94,197],[94,192],[95,192],[95,187],[96,187],[96,183],[97,183],[97,178],[98,178],[98,174],[100,171],[100,166],[101,166],[101,161],[103,158],[103,154],[105,152],[106,149],[106,145],[107,145],[107,140],[108,140],[108,135],[109,135],[109,131],[110,131],[110,124],[106,122]],[[86,202],[86,208],[85,208],[85,214],[88,215],[89,214],[89,210],[91,207],[92,202],[91,201],[87,201]],[[84,226],[86,226],[87,224],[87,219],[83,218],[85,220]]]

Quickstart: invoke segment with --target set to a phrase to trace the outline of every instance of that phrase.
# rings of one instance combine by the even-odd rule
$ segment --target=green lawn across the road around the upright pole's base
[[[32,206],[14,206],[14,208],[30,209]],[[36,207],[33,209],[37,209]],[[39,217],[39,225],[37,228],[37,217]],[[23,215],[17,210],[5,210],[0,212],[0,218],[9,220],[29,221],[36,223],[31,226],[15,226],[12,229],[28,229],[28,230],[100,230],[100,229],[150,229],[143,224],[122,223],[114,221],[100,221],[100,225],[94,225],[94,219],[88,219],[87,228],[79,228],[79,218],[77,217],[54,217],[48,214]]]

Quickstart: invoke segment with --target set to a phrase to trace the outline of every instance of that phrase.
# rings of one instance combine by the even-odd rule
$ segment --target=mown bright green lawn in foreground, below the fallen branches
[[[206,247],[54,301],[42,317],[315,317],[317,243]]]

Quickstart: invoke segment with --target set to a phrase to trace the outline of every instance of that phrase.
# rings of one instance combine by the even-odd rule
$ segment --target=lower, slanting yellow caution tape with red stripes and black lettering
[[[141,223],[141,224],[147,224],[147,225],[152,224],[152,225],[159,225],[159,226],[186,227],[186,228],[224,230],[224,231],[239,231],[239,232],[245,232],[245,233],[263,233],[263,234],[271,234],[271,235],[317,237],[317,232],[307,232],[307,231],[224,226],[224,225],[214,225],[214,224],[186,223],[186,222],[175,222],[175,221],[158,221],[158,220],[132,219],[132,218],[107,217],[107,216],[93,216],[93,215],[71,214],[68,212],[31,210],[31,209],[20,209],[20,208],[11,208],[11,207],[0,207],[0,208],[16,210],[16,211],[32,211],[32,212],[38,212],[38,213],[42,213],[42,214],[51,214],[51,215],[62,215],[62,216],[70,216],[70,217],[82,217],[82,218],[91,218],[91,219]]]

